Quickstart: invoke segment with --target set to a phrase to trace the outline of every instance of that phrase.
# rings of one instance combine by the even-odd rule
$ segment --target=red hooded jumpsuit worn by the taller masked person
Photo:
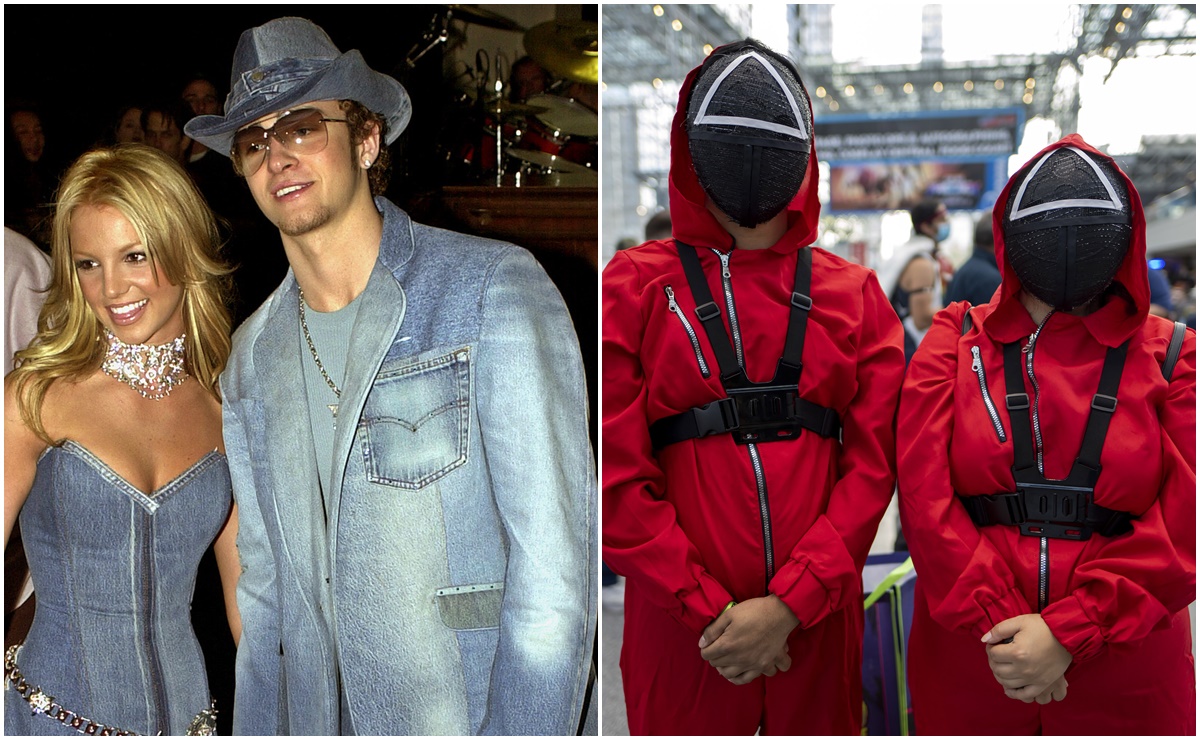
[[[696,74],[673,124],[672,230],[697,248],[726,331],[732,300],[746,373],[762,383],[784,351],[798,252],[816,239],[817,157],[780,241],[732,248],[704,207],[688,152],[686,90]],[[726,393],[674,243],[619,252],[605,269],[604,559],[628,577],[620,664],[635,735],[859,732],[862,568],[892,497],[904,337],[874,272],[810,248],[799,391],[840,413],[841,444],[808,431],[758,445],[721,434],[655,455],[652,422]],[[727,255],[727,284],[712,249]],[[768,589],[800,622],[788,638],[792,667],[736,686],[704,662],[697,642],[731,600]]]

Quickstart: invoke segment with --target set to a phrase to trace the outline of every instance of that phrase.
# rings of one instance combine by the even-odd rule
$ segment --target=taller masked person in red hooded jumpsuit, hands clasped
[[[604,559],[632,734],[857,734],[862,570],[904,353],[875,273],[811,246],[808,94],[754,41],[688,76],[673,239],[602,288]]]

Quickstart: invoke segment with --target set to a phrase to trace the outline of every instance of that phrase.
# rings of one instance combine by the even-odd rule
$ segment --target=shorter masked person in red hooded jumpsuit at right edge
[[[923,734],[1194,735],[1195,333],[1150,315],[1138,191],[1079,134],[1008,182],[1001,287],[908,367]]]

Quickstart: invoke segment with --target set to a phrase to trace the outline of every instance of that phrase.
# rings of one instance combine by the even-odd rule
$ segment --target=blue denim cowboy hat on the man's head
[[[233,53],[224,115],[200,115],[184,132],[229,156],[233,134],[264,115],[298,103],[352,100],[388,121],[388,144],[413,115],[404,88],[380,74],[358,49],[344,54],[320,26],[304,18],[276,18],[244,31]]]

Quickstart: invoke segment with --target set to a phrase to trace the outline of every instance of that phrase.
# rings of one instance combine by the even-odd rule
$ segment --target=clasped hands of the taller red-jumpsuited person
[[[704,628],[700,655],[733,684],[749,684],[791,667],[787,636],[799,624],[774,594],[743,601]]]

